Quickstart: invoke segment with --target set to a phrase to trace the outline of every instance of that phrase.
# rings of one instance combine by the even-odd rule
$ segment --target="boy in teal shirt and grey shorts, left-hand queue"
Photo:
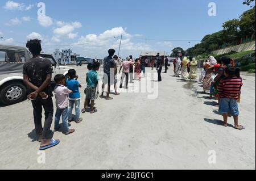
[[[100,63],[94,62],[93,69],[88,71],[86,76],[86,98],[85,105],[87,104],[87,100],[90,100],[90,113],[95,113],[97,110],[94,107],[94,101],[96,99],[96,91],[98,88],[98,81],[100,81],[100,77],[98,77],[97,71],[100,69]]]

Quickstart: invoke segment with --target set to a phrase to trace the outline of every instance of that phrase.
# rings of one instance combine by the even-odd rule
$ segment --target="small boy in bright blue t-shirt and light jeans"
[[[69,107],[68,107],[68,122],[71,123],[72,121],[72,111],[75,104],[75,111],[76,111],[76,123],[80,123],[82,118],[80,118],[80,99],[81,95],[79,92],[79,88],[82,86],[77,81],[78,75],[76,75],[76,70],[71,69],[68,70],[68,79],[67,79],[67,87],[69,90],[72,90],[72,94],[69,94]]]

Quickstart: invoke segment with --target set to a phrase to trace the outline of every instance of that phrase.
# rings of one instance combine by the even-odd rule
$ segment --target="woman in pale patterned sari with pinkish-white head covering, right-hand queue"
[[[210,88],[212,87],[212,73],[213,73],[212,66],[214,66],[215,64],[217,64],[217,60],[213,56],[210,56],[208,58],[207,63],[204,65],[205,66],[205,77],[203,80],[204,92],[209,91]]]

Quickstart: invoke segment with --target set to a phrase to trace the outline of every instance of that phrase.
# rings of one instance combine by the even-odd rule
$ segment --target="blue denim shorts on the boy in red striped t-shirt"
[[[221,98],[218,112],[222,114],[230,113],[232,116],[239,116],[237,99]]]

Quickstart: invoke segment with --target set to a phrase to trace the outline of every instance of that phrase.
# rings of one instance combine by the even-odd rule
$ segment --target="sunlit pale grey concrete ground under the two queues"
[[[76,69],[84,88],[86,66]],[[54,134],[61,142],[46,150],[45,164],[38,163],[30,101],[0,107],[0,169],[255,169],[255,77],[243,76],[240,121],[246,129],[238,131],[231,118],[230,127],[221,126],[215,100],[200,94],[200,83],[172,77],[172,68],[162,75],[156,99],[138,92],[139,85],[114,100],[98,98],[97,113],[71,123],[75,133]],[[157,87],[150,76],[148,83]]]

